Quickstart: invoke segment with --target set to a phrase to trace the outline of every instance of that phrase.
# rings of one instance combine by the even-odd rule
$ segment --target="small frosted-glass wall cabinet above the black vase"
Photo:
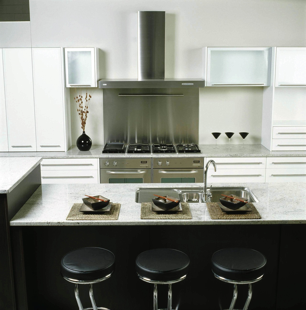
[[[98,48],[64,48],[66,87],[97,87],[99,81]]]

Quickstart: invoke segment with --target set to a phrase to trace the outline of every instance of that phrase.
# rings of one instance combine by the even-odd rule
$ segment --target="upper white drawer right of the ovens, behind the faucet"
[[[206,162],[213,159],[219,169],[259,169],[266,167],[266,157],[206,157]],[[209,169],[213,169],[210,165]]]

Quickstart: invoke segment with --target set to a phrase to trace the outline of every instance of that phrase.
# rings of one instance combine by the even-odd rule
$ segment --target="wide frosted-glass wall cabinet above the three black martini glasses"
[[[270,86],[271,47],[206,47],[205,86]]]

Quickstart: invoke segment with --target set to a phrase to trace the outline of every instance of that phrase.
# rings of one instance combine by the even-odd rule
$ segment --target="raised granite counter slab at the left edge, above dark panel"
[[[10,193],[41,161],[41,157],[0,157],[0,194]]]

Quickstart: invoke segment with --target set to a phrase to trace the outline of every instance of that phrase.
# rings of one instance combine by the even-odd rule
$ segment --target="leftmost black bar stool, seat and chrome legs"
[[[108,279],[115,268],[115,256],[112,252],[102,248],[82,248],[64,255],[60,264],[60,273],[69,282],[75,283],[74,294],[80,310],[83,306],[79,297],[79,284],[89,284],[89,297],[92,307],[87,309],[103,309],[97,307],[93,295],[92,285]]]

